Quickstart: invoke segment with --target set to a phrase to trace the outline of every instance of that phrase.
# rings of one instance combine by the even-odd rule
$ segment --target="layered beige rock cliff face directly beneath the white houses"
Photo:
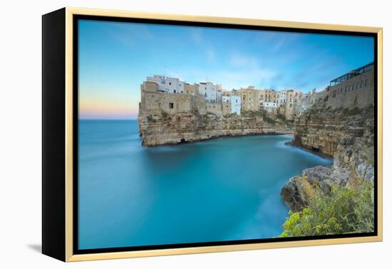
[[[212,113],[200,115],[197,112],[175,115],[165,112],[158,115],[140,113],[138,124],[143,146],[179,144],[225,136],[292,134],[292,122],[276,117],[272,119],[258,112],[221,117]]]

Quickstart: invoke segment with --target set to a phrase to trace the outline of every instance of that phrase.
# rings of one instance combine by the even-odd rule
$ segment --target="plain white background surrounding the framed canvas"
[[[0,41],[1,268],[391,268],[391,48],[389,1],[2,1]],[[338,23],[384,28],[384,241],[342,246],[64,264],[41,245],[41,15],[63,6]],[[391,152],[388,151],[391,150]],[[389,165],[388,165],[389,164]]]

